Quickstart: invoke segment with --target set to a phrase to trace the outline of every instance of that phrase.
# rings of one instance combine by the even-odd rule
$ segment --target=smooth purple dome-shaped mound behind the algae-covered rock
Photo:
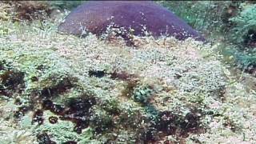
[[[102,35],[114,32],[124,39],[132,35],[154,38],[170,35],[204,41],[200,34],[163,6],[150,1],[93,1],[73,10],[58,29],[69,34]]]

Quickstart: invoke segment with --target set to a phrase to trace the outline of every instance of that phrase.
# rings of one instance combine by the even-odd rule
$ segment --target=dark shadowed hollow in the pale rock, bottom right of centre
[[[143,142],[154,143],[168,135],[187,138],[190,133],[202,133],[201,114],[190,112],[184,118],[171,111],[158,112],[158,118],[151,121],[151,126],[142,134]]]

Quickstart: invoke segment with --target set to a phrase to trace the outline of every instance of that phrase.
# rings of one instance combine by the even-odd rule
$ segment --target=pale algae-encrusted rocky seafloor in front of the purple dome
[[[218,43],[102,41],[0,19],[1,143],[255,143],[255,78]]]

